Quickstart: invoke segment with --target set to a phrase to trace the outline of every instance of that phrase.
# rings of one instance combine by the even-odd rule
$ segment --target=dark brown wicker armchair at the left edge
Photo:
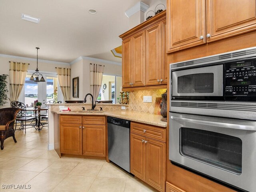
[[[8,137],[13,138],[16,143],[16,138],[14,135],[14,122],[18,112],[21,109],[17,108],[2,108],[0,109],[0,142],[1,150],[4,149],[4,140]]]

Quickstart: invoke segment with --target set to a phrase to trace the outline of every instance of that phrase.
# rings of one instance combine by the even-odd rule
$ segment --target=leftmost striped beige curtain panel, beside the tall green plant
[[[10,101],[17,101],[25,84],[28,63],[10,62]]]

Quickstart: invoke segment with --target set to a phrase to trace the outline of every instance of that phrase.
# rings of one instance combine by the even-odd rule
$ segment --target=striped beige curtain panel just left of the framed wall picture
[[[64,100],[70,100],[70,69],[56,67],[56,72]]]

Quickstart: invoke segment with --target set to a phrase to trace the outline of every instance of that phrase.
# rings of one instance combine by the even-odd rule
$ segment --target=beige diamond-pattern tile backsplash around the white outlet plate
[[[129,106],[126,110],[154,114],[156,98],[162,97],[161,94],[164,92],[166,89],[131,91],[129,92]],[[143,96],[152,96],[152,103],[144,103]]]

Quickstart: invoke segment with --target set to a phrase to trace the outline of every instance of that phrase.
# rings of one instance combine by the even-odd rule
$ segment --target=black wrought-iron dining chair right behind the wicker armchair
[[[20,128],[18,128],[18,130],[24,130],[25,129],[25,133],[26,133],[26,122],[27,121],[31,121],[33,122],[33,120],[36,118],[32,115],[28,115],[26,112],[26,105],[22,102],[19,101],[12,101],[11,102],[11,106],[13,108],[18,108],[21,109],[18,112],[17,118],[16,118],[16,123],[15,123],[15,129],[14,132],[16,131],[17,128],[17,121],[20,122]],[[25,123],[24,123],[25,122]],[[32,124],[32,122],[30,124]]]

